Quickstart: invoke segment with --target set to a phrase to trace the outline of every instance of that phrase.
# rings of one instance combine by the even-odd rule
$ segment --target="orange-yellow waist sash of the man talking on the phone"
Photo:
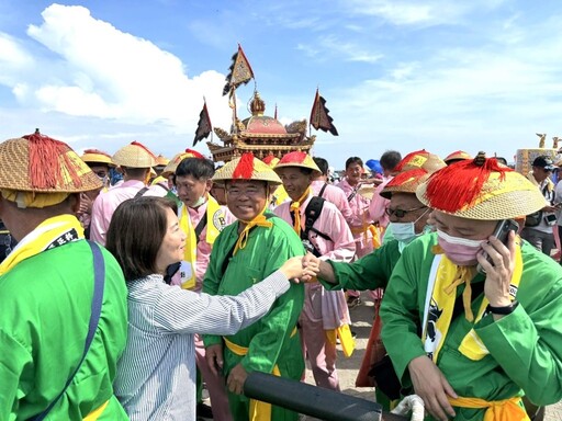
[[[486,409],[484,421],[528,421],[529,416],[525,411],[520,397],[488,402],[479,398],[451,398],[449,402],[453,407]]]

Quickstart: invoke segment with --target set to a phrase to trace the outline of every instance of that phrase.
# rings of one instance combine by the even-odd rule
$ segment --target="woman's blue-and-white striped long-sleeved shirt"
[[[161,275],[130,282],[127,345],[114,387],[131,420],[194,420],[194,333],[234,334],[289,286],[280,271],[237,296],[196,294]]]

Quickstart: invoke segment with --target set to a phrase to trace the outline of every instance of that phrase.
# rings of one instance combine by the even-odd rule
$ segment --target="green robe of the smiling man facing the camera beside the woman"
[[[237,295],[277,271],[289,259],[303,255],[301,239],[291,226],[277,216],[269,216],[271,228],[251,229],[246,247],[237,251],[221,275],[223,261],[238,239],[238,223],[226,227],[215,240],[203,281],[203,292],[211,295]],[[272,373],[277,365],[282,377],[300,380],[304,359],[299,333],[295,332],[303,308],[304,285],[291,284],[269,312],[256,323],[226,337],[237,345],[248,348],[246,356],[238,356],[224,345],[224,374],[241,363],[246,372]],[[216,335],[203,337],[205,346],[222,343]],[[228,394],[233,419],[247,420],[249,400],[241,395]],[[297,414],[272,407],[272,420],[296,420]]]

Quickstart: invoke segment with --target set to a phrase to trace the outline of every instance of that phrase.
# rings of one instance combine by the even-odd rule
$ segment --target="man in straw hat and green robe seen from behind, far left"
[[[0,144],[0,217],[19,240],[0,264],[2,420],[128,419],[113,395],[123,272],[75,216],[80,193],[101,185],[68,145],[38,132]]]

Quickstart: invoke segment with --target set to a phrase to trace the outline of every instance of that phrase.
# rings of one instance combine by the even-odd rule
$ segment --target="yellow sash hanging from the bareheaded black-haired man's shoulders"
[[[218,234],[221,234],[226,226],[226,221],[224,210],[210,194],[207,194],[206,210],[203,217],[206,218],[205,241],[213,244]],[[183,229],[183,232],[188,236],[186,239],[186,248],[183,249],[183,262],[180,269],[181,287],[183,289],[191,289],[195,286],[196,281],[198,239],[186,204],[181,206],[180,228]]]

